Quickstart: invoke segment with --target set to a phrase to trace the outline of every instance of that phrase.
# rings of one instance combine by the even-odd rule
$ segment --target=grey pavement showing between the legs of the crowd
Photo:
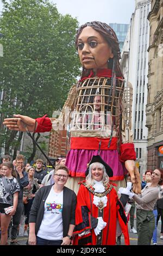
[[[134,228],[136,229],[136,218],[134,219]],[[130,232],[130,222],[128,223],[128,229],[129,229],[129,237],[130,237],[130,245],[137,245],[137,234],[134,234]],[[161,231],[161,221],[158,223],[158,245],[163,245],[163,240],[160,239],[160,231]],[[27,236],[18,236],[17,240],[20,245],[26,245],[28,237]],[[10,240],[9,240],[10,241]],[[121,236],[121,245],[124,245],[124,236]],[[152,242],[151,242],[152,245]]]

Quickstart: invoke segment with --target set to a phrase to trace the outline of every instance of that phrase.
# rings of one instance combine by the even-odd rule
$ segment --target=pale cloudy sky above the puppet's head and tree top
[[[129,24],[135,0],[50,0],[59,13],[76,17],[79,25],[88,21]],[[2,3],[0,0],[0,11]]]

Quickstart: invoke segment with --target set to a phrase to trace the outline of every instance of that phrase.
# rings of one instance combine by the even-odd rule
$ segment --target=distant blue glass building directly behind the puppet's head
[[[109,26],[114,29],[118,41],[120,42],[120,50],[122,52],[123,44],[126,39],[126,35],[128,32],[128,24],[118,24],[118,23],[110,23]]]

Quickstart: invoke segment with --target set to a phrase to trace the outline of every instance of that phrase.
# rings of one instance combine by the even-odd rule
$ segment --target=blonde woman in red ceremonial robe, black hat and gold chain
[[[127,217],[113,185],[113,172],[101,156],[93,156],[77,195],[73,245],[116,245],[116,230],[129,245]]]

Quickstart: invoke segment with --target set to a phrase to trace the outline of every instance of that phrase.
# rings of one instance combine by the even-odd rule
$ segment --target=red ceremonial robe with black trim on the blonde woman
[[[94,228],[97,226],[96,218],[99,217],[100,210],[93,204],[93,193],[89,191],[84,184],[85,181],[82,181],[77,195],[76,228],[73,233],[73,245],[99,245]],[[109,188],[111,188],[111,190]],[[92,190],[94,189],[92,188]],[[100,245],[116,245],[117,219],[120,223],[122,233],[124,234],[125,244],[129,245],[128,225],[123,206],[112,185],[108,185],[106,190],[110,190],[110,192],[106,194],[108,202],[101,212],[103,221],[107,224],[99,234],[102,236]],[[96,222],[94,228],[92,227],[93,222],[94,224]]]

